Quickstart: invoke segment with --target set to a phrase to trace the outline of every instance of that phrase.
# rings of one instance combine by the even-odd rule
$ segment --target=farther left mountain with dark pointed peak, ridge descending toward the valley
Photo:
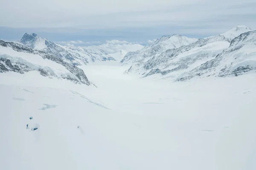
[[[72,63],[73,65],[83,65],[94,61],[115,60],[102,50],[87,50],[83,47],[72,45],[59,45],[39,37],[35,33],[25,33],[21,40],[17,42],[33,49],[47,51],[50,54],[61,57],[65,62]]]

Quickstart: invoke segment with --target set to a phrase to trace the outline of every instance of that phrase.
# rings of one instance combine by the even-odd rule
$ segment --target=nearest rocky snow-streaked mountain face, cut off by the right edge
[[[256,31],[239,35],[230,42],[229,48],[214,59],[184,73],[177,80],[183,81],[195,76],[239,76],[256,70]]]

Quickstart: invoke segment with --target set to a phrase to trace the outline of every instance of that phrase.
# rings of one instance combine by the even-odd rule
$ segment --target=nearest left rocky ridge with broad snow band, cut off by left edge
[[[40,40],[40,42],[42,41]],[[41,46],[40,43],[27,45],[34,46],[34,48]],[[87,79],[84,71],[77,66],[65,62],[64,59],[54,53],[35,50],[28,46],[0,40],[0,73],[13,71],[24,74],[29,71],[38,71],[44,77],[67,79],[78,84],[93,85]]]

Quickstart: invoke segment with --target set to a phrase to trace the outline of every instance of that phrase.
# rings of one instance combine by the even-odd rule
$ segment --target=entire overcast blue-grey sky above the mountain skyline
[[[0,39],[35,32],[55,42],[147,43],[167,34],[207,37],[256,29],[255,0],[5,0]]]

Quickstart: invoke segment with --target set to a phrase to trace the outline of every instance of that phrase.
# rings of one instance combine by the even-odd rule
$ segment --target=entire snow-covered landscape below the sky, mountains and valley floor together
[[[99,48],[0,40],[0,169],[256,168],[256,31]]]

